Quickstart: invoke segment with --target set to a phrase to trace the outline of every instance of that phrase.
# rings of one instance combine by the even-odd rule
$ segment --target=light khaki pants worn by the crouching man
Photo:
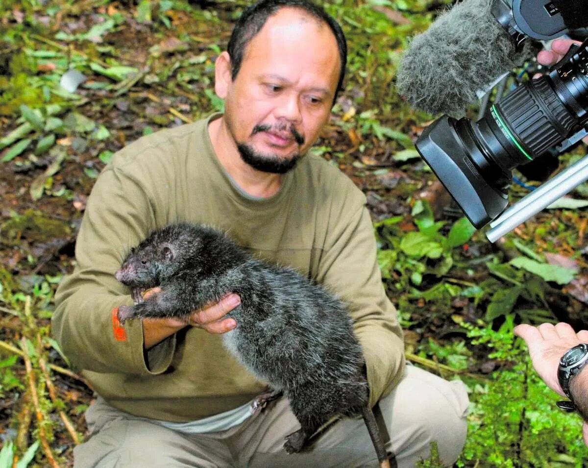
[[[407,366],[399,385],[380,400],[392,466],[415,466],[429,456],[433,441],[443,462],[452,465],[465,443],[467,405],[461,382]],[[239,426],[207,434],[183,434],[136,419],[101,398],[86,420],[91,437],[75,448],[75,468],[378,466],[363,419],[342,419],[308,452],[287,454],[284,437],[300,426],[284,398]]]

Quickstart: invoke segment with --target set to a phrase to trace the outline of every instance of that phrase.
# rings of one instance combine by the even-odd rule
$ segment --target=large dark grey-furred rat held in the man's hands
[[[338,414],[362,414],[371,419],[368,427],[375,426],[370,435],[377,432],[362,349],[345,305],[295,271],[253,259],[217,230],[178,223],[131,249],[115,276],[133,289],[133,297],[140,289],[161,287],[144,302],[119,307],[121,322],[186,317],[228,293],[240,296],[240,306],[228,313],[237,325],[223,333],[223,342],[253,375],[288,397],[301,426],[287,437],[289,453]],[[382,462],[381,440],[376,452]]]

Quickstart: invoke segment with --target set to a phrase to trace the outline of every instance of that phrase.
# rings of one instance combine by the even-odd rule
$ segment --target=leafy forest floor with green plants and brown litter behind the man
[[[406,38],[425,29],[440,7],[425,0],[406,4],[329,4],[348,34],[349,75],[314,151],[366,195],[407,357],[448,379],[462,378],[470,389],[472,435],[459,463],[538,466],[533,457],[539,457],[544,466],[582,466],[587,453],[578,443],[579,421],[543,418],[556,412],[546,410],[556,397],[533,377],[512,325],[586,327],[588,213],[582,202],[588,189],[580,186],[564,208],[534,216],[496,245],[460,220],[412,146],[430,116],[412,111],[393,91]],[[22,457],[38,440],[32,463],[71,466],[93,395],[68,370],[50,319],[55,288],[75,265],[86,200],[112,154],[128,143],[222,110],[212,93],[213,63],[243,4],[6,5],[0,12],[0,443],[13,442]],[[366,34],[377,40],[370,44]],[[85,75],[74,92],[59,86],[70,68]],[[539,185],[585,153],[577,146],[536,165],[525,180]],[[524,193],[515,186],[511,197]],[[516,258],[524,265],[509,263]],[[506,383],[501,372],[515,377]],[[515,380],[520,386],[512,386]],[[538,388],[535,397],[550,401],[532,409]],[[514,392],[518,406],[505,404],[502,392]],[[565,434],[563,426],[570,427]],[[508,431],[518,436],[509,439]],[[487,438],[495,446],[484,452],[478,446]],[[546,453],[539,453],[541,445]]]

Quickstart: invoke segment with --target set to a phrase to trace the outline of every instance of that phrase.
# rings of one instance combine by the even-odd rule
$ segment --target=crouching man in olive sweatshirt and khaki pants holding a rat
[[[402,331],[376,263],[365,197],[338,169],[306,155],[345,71],[340,27],[303,0],[243,12],[216,61],[224,115],[139,139],[117,153],[89,197],[76,268],[56,294],[54,331],[99,398],[75,466],[365,466],[376,455],[361,419],[335,423],[308,452],[288,455],[297,430],[281,399],[252,415],[264,389],[226,351],[229,295],[186,320],[129,320],[113,273],[156,227],[178,220],[226,230],[269,262],[289,265],[349,302],[370,403],[380,400],[397,466],[437,442],[450,465],[466,436],[467,394],[403,360]],[[157,293],[157,292],[155,292]]]

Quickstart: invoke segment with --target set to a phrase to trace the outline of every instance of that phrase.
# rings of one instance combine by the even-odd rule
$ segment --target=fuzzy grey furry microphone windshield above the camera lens
[[[415,36],[400,61],[396,88],[414,108],[465,114],[476,91],[531,56],[522,52],[490,11],[492,0],[465,0]]]

